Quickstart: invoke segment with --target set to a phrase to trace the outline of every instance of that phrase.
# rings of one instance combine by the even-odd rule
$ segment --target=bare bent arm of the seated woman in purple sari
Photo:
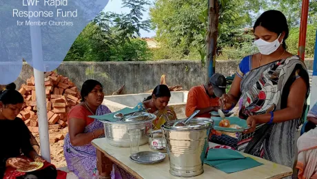
[[[91,143],[94,138],[103,134],[103,129],[97,129],[90,133],[83,133],[86,121],[83,118],[70,118],[68,120],[68,132],[70,135],[70,143],[73,146],[83,146]]]

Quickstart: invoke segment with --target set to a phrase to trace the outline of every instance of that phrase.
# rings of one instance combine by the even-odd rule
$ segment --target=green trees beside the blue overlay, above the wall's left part
[[[152,54],[140,37],[150,21],[143,21],[146,0],[123,0],[127,14],[101,12],[74,41],[65,61],[146,61]]]

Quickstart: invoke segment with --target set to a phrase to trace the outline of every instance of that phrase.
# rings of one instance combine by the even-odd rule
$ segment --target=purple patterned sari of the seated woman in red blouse
[[[96,110],[96,115],[111,113],[110,109],[105,105],[100,105]],[[86,116],[83,116],[85,118]],[[103,123],[94,119],[92,123],[85,127],[84,133],[90,133],[96,129],[103,129]],[[99,136],[102,138],[104,136]],[[98,178],[96,169],[96,148],[90,143],[83,146],[72,146],[70,143],[69,134],[64,140],[64,156],[67,162],[68,169],[75,173],[79,179]]]

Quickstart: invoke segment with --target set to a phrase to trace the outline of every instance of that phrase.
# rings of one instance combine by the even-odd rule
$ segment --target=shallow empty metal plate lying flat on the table
[[[165,154],[159,151],[140,151],[133,156],[130,156],[130,160],[137,163],[152,164],[162,162],[165,159]]]

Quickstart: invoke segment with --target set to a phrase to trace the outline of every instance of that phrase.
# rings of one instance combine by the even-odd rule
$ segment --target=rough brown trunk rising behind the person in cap
[[[207,81],[214,74],[216,67],[216,47],[218,38],[218,23],[219,23],[219,3],[218,0],[208,0],[208,31],[206,38],[206,66],[207,66]]]

